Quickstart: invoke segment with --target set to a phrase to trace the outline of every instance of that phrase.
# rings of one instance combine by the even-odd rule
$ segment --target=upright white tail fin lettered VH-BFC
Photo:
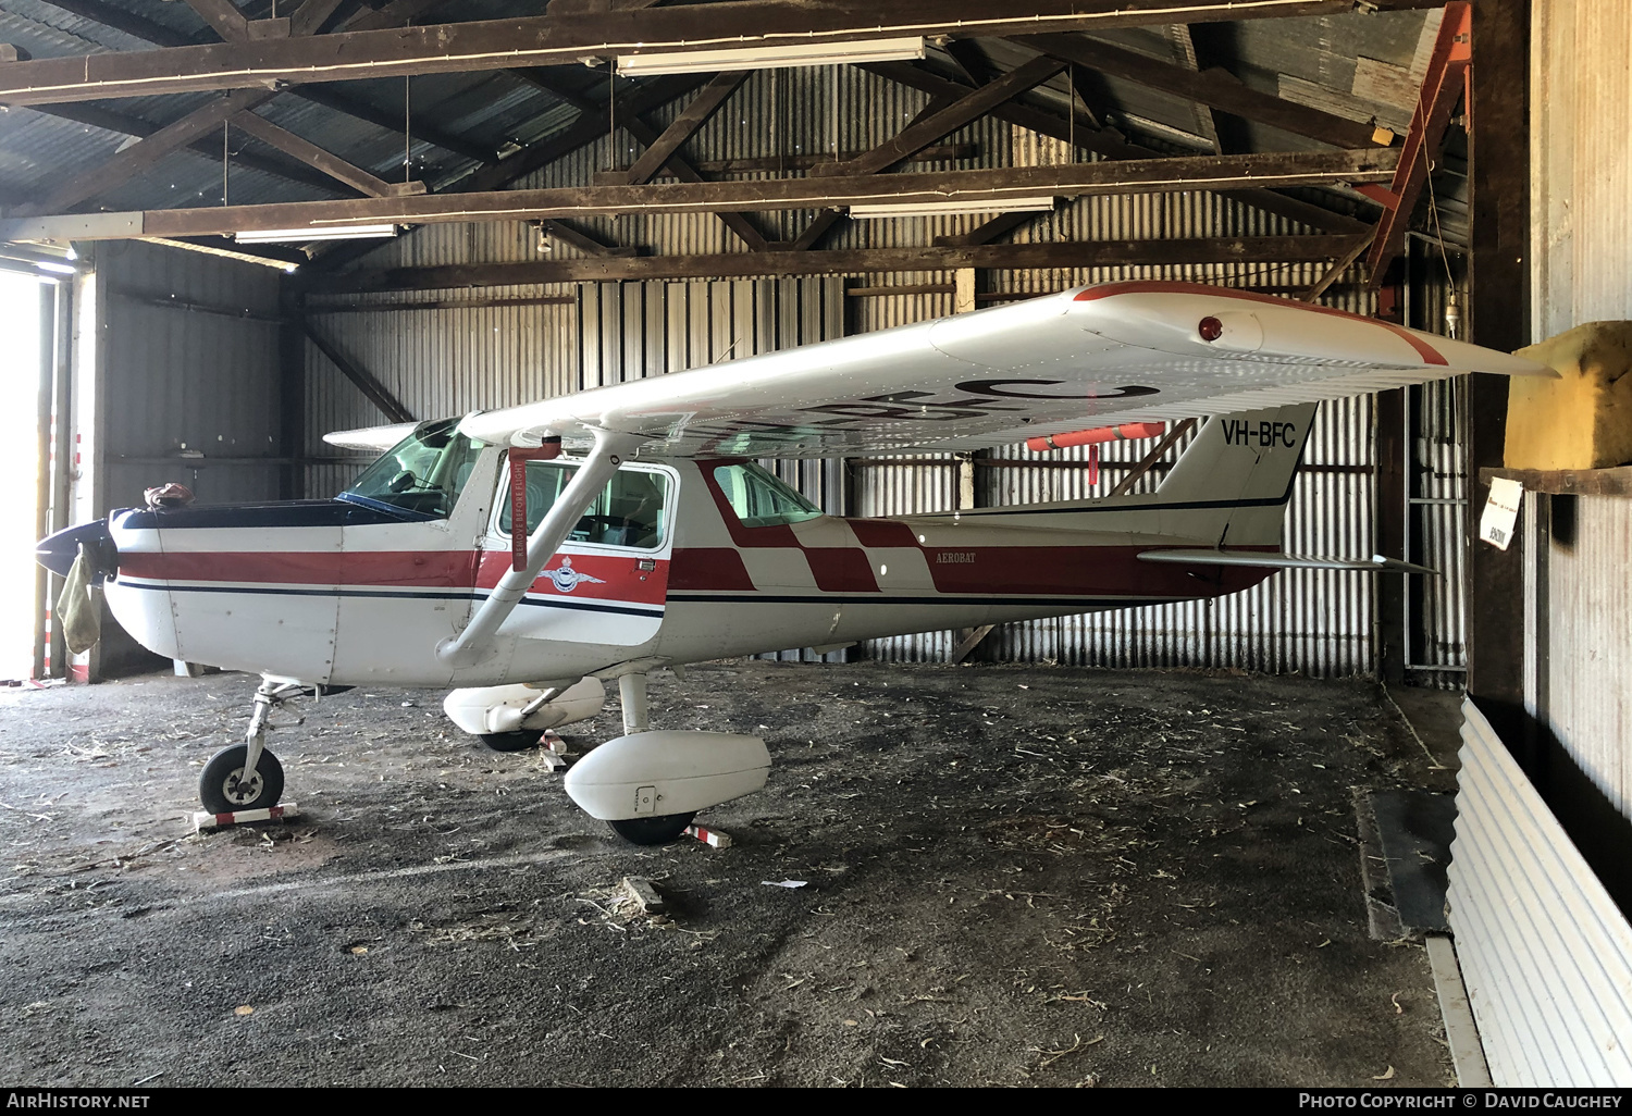
[[[1209,419],[1162,481],[1157,504],[1216,509],[1201,534],[1217,547],[1278,545],[1314,416],[1314,403],[1297,403]]]

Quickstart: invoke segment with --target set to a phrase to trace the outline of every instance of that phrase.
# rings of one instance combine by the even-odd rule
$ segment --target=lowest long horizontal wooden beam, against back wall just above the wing
[[[751,276],[885,274],[958,268],[1154,268],[1222,263],[1335,259],[1353,237],[1222,237],[1203,240],[1097,240],[969,248],[845,248],[832,251],[734,251],[712,256],[550,259],[508,264],[387,268],[308,277],[312,292],[436,290],[537,282],[632,279],[734,279]]]

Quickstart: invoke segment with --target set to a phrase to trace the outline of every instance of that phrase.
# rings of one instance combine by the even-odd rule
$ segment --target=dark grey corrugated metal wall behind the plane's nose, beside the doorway
[[[206,503],[276,499],[281,274],[137,241],[98,245],[95,268],[100,511],[171,480]]]

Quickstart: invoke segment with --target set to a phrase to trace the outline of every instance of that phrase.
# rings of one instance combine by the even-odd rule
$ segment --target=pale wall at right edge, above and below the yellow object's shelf
[[[1632,320],[1632,8],[1537,0],[1532,52],[1534,334]],[[1531,496],[1529,499],[1539,499]],[[1632,504],[1559,498],[1531,711],[1594,786],[1632,817]],[[1528,540],[1534,550],[1534,535]],[[1549,625],[1537,633],[1534,625]],[[1627,850],[1632,855],[1632,850]]]

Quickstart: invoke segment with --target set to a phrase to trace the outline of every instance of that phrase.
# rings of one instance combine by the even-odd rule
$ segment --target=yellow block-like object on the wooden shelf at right
[[[1632,462],[1632,321],[1590,321],[1519,349],[1562,379],[1508,382],[1508,468]]]

